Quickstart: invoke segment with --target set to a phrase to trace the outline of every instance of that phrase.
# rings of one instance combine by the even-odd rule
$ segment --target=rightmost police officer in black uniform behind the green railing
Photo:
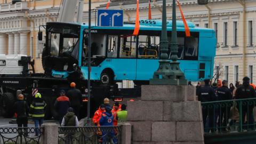
[[[250,78],[249,77],[244,77],[243,78],[243,84],[239,86],[236,90],[235,93],[235,98],[236,99],[247,99],[247,98],[254,98],[255,97],[255,91],[253,87],[250,85]],[[244,101],[246,102],[246,101]],[[247,102],[244,103],[242,106],[242,122],[245,124],[245,116],[247,116],[247,124],[251,124],[251,126],[248,126],[249,129],[253,129],[253,123],[254,123],[254,118],[253,118],[253,104],[248,104]],[[245,104],[245,105],[244,105]],[[238,105],[239,107],[239,105]],[[239,109],[239,108],[238,108]],[[244,126],[244,128],[247,128],[247,126]]]

